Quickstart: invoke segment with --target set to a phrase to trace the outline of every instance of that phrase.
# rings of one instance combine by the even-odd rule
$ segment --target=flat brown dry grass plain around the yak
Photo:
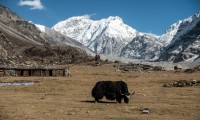
[[[34,81],[32,86],[0,86],[0,120],[200,120],[200,87],[165,88],[176,80],[199,80],[200,72],[122,73],[113,64],[70,66],[70,77],[1,77],[0,82]],[[135,91],[129,104],[93,103],[99,80],[124,80]],[[149,108],[150,114],[141,114]]]

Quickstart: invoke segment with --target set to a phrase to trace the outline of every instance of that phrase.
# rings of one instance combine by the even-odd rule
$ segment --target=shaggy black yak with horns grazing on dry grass
[[[104,96],[108,100],[116,100],[121,103],[124,99],[125,103],[129,102],[131,95],[128,92],[127,84],[124,81],[99,81],[92,89],[92,96],[95,98],[95,102],[98,102]]]

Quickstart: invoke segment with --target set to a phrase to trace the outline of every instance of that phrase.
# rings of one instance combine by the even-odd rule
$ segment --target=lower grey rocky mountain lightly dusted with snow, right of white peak
[[[158,36],[140,33],[121,51],[120,57],[142,60],[155,60],[159,57],[159,52],[163,44]]]

